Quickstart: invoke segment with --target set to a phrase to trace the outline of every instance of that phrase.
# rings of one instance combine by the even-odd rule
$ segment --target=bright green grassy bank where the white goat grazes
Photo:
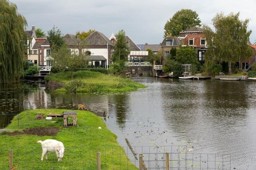
[[[77,111],[77,127],[62,127],[62,118],[37,120],[39,113],[44,117],[48,113],[62,113],[66,110],[36,109],[20,113],[19,125],[22,129],[34,127],[57,127],[56,136],[37,136],[22,134],[10,136],[0,134],[0,167],[8,167],[8,150],[13,150],[14,166],[18,169],[96,169],[96,153],[101,152],[102,169],[137,169],[126,157],[122,147],[116,141],[116,135],[106,128],[100,117],[88,111]],[[56,121],[56,122],[55,122]],[[102,127],[102,129],[98,129]],[[14,117],[8,129],[18,129],[18,117]],[[55,153],[48,160],[41,161],[42,148],[38,140],[56,139],[63,142],[65,154],[58,162]]]

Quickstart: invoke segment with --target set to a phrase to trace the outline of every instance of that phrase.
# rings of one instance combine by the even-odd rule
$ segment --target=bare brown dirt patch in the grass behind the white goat
[[[38,127],[38,128],[28,128],[20,132],[9,133],[9,136],[15,136],[20,134],[33,134],[38,136],[56,136],[60,131],[60,128],[54,127]]]

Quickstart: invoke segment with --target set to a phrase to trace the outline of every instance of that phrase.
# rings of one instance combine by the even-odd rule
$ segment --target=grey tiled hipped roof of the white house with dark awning
[[[86,38],[87,45],[111,45],[115,46],[104,34],[101,32],[95,31],[90,36]]]

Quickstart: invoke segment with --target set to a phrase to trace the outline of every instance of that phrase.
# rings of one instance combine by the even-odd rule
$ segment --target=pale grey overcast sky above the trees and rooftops
[[[256,0],[10,0],[34,25],[46,33],[54,25],[62,34],[96,29],[108,38],[124,30],[136,44],[162,42],[164,25],[178,10],[192,9],[202,24],[211,25],[217,12],[240,12],[250,19],[250,41],[256,41]]]

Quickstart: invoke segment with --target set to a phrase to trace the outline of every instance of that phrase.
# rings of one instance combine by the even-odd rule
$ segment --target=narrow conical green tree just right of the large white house
[[[125,32],[124,30],[120,30],[118,34],[116,34],[116,44],[115,51],[112,57],[112,61],[124,60],[127,61],[127,57],[130,54],[129,47],[127,45],[127,41],[125,40]]]

